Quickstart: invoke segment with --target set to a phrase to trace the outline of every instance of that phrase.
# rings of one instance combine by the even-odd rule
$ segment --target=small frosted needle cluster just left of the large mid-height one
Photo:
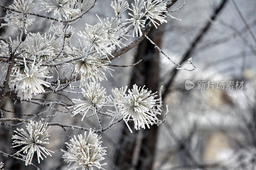
[[[72,99],[75,105],[68,108],[74,108],[74,115],[78,113],[84,114],[82,117],[83,121],[86,113],[91,107],[95,109],[95,107],[102,107],[106,103],[105,99],[107,98],[107,96],[105,95],[105,89],[103,89],[103,87],[100,88],[100,83],[96,84],[96,82],[91,82],[87,84],[85,86],[85,90],[83,88],[81,88],[81,90],[86,100]]]

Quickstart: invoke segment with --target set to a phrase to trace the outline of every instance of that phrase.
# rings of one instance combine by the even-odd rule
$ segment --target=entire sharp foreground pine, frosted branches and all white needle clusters
[[[7,12],[5,17],[1,18],[4,23],[1,22],[0,28],[12,27],[14,31],[11,32],[18,32],[20,35],[6,39],[0,36],[0,88],[1,94],[5,94],[0,96],[0,108],[4,97],[8,94],[13,96],[15,102],[20,100],[20,102],[43,105],[49,107],[48,111],[52,109],[62,112],[61,109],[55,108],[61,106],[69,113],[72,112],[74,116],[83,115],[82,121],[87,112],[92,110],[92,116],[96,115],[98,118],[99,130],[92,131],[58,123],[54,125],[61,126],[70,138],[64,127],[89,131],[88,136],[84,133],[84,137],[80,134],[77,138],[76,136],[72,138],[71,143],[66,143],[68,150],[62,150],[64,160],[69,165],[72,164],[70,169],[87,170],[92,166],[102,168],[106,165],[100,163],[104,160],[106,150],[100,145],[101,137],[94,132],[103,132],[120,121],[124,121],[131,132],[129,121],[134,122],[134,129],[150,128],[154,123],[161,123],[157,115],[163,113],[160,109],[162,101],[161,97],[156,99],[156,92],[151,92],[144,86],[133,85],[133,88],[128,90],[127,86],[112,89],[112,95],[108,96],[107,90],[101,87],[98,81],[107,80],[107,74],[112,76],[111,73],[114,71],[112,67],[117,65],[111,64],[111,60],[121,55],[118,52],[129,47],[129,44],[125,43],[131,41],[124,41],[128,40],[127,37],[143,36],[144,29],[150,24],[157,28],[167,22],[166,15],[169,14],[166,4],[169,2],[169,0],[133,0],[129,5],[127,0],[114,0],[109,7],[113,8],[115,15],[112,12],[113,16],[100,18],[96,14],[95,20],[98,22],[85,23],[80,30],[75,30],[72,24],[84,17],[96,5],[96,0],[39,0],[37,3],[33,0],[14,0],[9,7],[1,5]],[[41,13],[49,12],[49,16],[38,14],[35,9]],[[128,18],[122,18],[126,10],[129,11]],[[32,32],[30,29],[29,26],[33,24],[35,17],[52,21],[45,33]],[[40,27],[48,26],[47,23],[44,22]],[[78,34],[79,39],[74,41],[75,33]],[[147,37],[146,34],[144,36]],[[153,41],[151,43],[154,44]],[[157,49],[161,52],[160,48]],[[189,61],[193,65],[192,60]],[[77,81],[80,81],[79,87],[82,92],[75,91],[73,83]],[[66,92],[81,93],[84,97],[71,98],[71,100],[64,94]],[[69,103],[55,97],[40,99],[40,95],[36,96],[38,94],[56,94],[68,99]],[[108,107],[107,112],[103,113],[102,107]],[[32,164],[34,154],[37,155],[38,163],[43,157],[51,156],[52,151],[45,148],[45,144],[49,144],[47,122],[35,122],[33,119],[41,117],[44,120],[54,115],[41,114],[27,114],[26,116],[34,117],[15,120],[28,122],[27,131],[17,128],[14,131],[16,134],[12,136],[12,147],[22,147],[14,156],[22,158],[21,160],[25,159],[26,165]],[[106,128],[103,128],[100,114],[111,119]],[[3,116],[4,114],[1,118]],[[1,162],[0,169],[2,166]]]

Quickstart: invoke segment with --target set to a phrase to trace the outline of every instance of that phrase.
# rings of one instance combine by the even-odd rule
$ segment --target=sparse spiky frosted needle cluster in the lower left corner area
[[[12,135],[13,145],[12,147],[23,146],[20,151],[23,153],[27,153],[25,165],[31,164],[34,153],[37,153],[37,160],[40,163],[40,158],[43,160],[43,156],[46,158],[46,155],[51,155],[49,149],[46,149],[44,144],[49,144],[46,140],[49,140],[48,129],[46,129],[48,123],[33,122],[30,121],[28,125],[26,125],[28,132],[26,132],[23,128],[17,128],[17,131],[14,130],[15,135]],[[25,146],[24,146],[25,145]],[[52,152],[54,153],[54,152]]]

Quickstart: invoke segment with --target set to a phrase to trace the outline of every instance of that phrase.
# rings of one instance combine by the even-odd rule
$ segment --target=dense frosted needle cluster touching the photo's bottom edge
[[[78,138],[78,139],[77,139]],[[74,136],[70,139],[70,144],[67,144],[68,150],[62,150],[64,152],[62,158],[72,164],[71,169],[82,168],[83,170],[89,169],[92,166],[97,168],[102,168],[101,166],[106,165],[107,163],[100,163],[101,160],[104,160],[103,157],[106,155],[106,147],[101,147],[101,137],[94,133],[94,130],[90,129],[88,136],[84,132],[84,137],[82,134]],[[68,166],[69,166],[68,165]],[[103,168],[102,168],[103,169]]]

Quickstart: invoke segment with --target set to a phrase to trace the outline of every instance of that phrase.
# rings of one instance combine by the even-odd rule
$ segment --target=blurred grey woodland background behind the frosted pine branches
[[[133,2],[127,1],[129,4]],[[11,0],[0,1],[5,6],[11,3]],[[100,18],[114,17],[110,3],[111,0],[98,0],[88,15],[73,24],[75,32],[83,31],[85,23],[93,25],[99,22],[95,14]],[[178,0],[170,10],[179,8],[183,3],[183,0]],[[163,105],[168,105],[170,112],[166,122],[160,126],[133,130],[131,134],[121,122],[101,133],[102,146],[108,147],[105,156],[107,165],[104,168],[256,169],[256,1],[187,0],[182,9],[171,14],[181,21],[167,17],[168,23],[152,29],[149,37],[174,62],[182,63],[183,67],[188,66],[186,60],[192,57],[196,70],[177,70],[147,40],[143,40],[137,48],[120,58],[112,60],[113,64],[120,65],[131,64],[140,59],[143,62],[135,67],[112,68],[115,70],[111,71],[113,77],[107,73],[108,81],[101,82],[108,94],[114,87],[131,87],[135,83],[146,85],[152,91],[159,91],[160,86],[164,85]],[[0,17],[4,15],[5,11],[0,9]],[[127,18],[127,15],[128,13],[124,13],[121,19]],[[36,18],[28,32],[45,33],[50,24],[51,21]],[[19,34],[17,29],[11,27],[0,29],[0,35],[5,38],[14,38]],[[78,35],[74,34],[71,39],[71,44],[75,47],[78,47],[77,38]],[[124,41],[125,44],[133,40],[132,37],[128,39]],[[193,89],[186,90],[186,80],[195,84]],[[206,82],[204,89],[197,89],[200,81]],[[213,86],[208,88],[208,81]],[[236,89],[235,85],[232,86],[233,89],[226,89],[226,86],[219,89],[218,81],[224,81],[226,86],[228,81],[244,83],[242,89],[241,86]],[[72,94],[70,96],[72,98]],[[75,96],[73,95],[74,98]],[[19,102],[14,104],[11,98],[6,99],[4,108],[25,113],[44,110],[44,107],[37,105]],[[9,117],[17,115],[11,114]],[[102,120],[104,126],[107,126],[109,119],[102,116]],[[72,117],[70,114],[60,113],[47,119],[47,122],[98,129],[96,117],[86,118],[81,122],[81,116]],[[25,124],[19,125],[21,127],[24,128]],[[10,148],[11,136],[16,128],[0,126],[1,151],[10,154],[16,152]],[[71,136],[84,133],[76,129],[68,131]],[[49,134],[51,137],[48,148],[55,153],[38,166],[43,170],[68,169],[60,152],[60,149],[65,149],[64,143],[69,140],[67,134],[59,127],[52,127]],[[5,163],[5,170],[34,168],[2,155],[1,161]],[[36,158],[33,162],[37,165]]]

